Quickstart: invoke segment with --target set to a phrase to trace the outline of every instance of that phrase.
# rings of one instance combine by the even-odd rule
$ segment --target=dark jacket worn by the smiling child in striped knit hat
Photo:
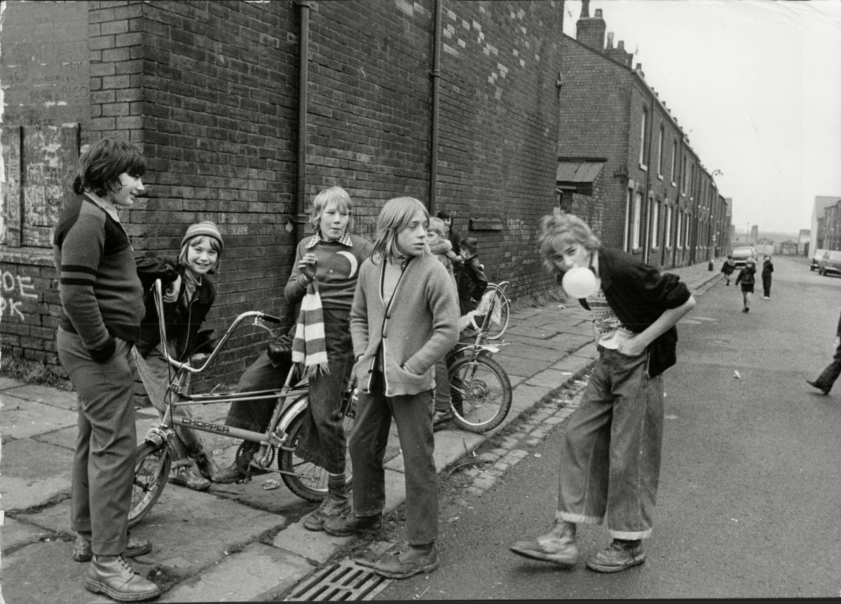
[[[175,354],[179,361],[185,360],[193,352],[199,352],[199,348],[205,343],[199,337],[198,329],[204,323],[210,307],[216,299],[216,286],[208,275],[204,275],[201,285],[196,289],[193,300],[188,308],[181,304],[184,294],[183,273],[187,270],[177,262],[166,257],[135,257],[137,274],[140,282],[143,283],[145,292],[145,316],[140,323],[140,340],[137,342],[137,351],[141,357],[146,357],[161,342],[161,332],[158,329],[158,317],[155,310],[155,298],[152,295],[152,285],[156,278],[161,279],[164,289],[167,284],[172,283],[178,276],[182,277],[181,290],[178,292],[178,299],[175,302],[164,302],[164,320],[167,326],[167,337],[170,342],[175,341]]]

